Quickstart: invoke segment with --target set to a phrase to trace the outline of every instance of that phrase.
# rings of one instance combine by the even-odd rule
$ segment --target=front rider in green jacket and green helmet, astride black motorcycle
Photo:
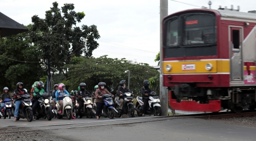
[[[45,90],[43,89],[44,87],[45,87],[45,84],[42,81],[39,81],[39,83],[37,83],[37,87],[33,91],[34,103],[32,107],[32,112],[34,116],[36,115],[37,106],[39,105],[38,99],[45,92]],[[36,120],[35,117],[33,118],[33,120]]]

